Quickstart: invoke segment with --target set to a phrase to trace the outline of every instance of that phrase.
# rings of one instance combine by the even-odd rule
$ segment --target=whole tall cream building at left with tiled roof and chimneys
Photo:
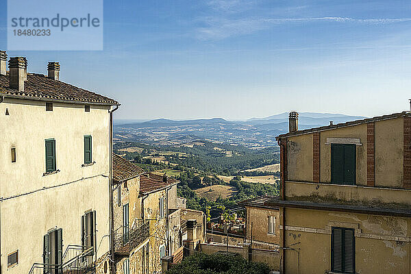
[[[0,51],[0,273],[108,273],[117,101]],[[96,195],[98,193],[98,195]]]

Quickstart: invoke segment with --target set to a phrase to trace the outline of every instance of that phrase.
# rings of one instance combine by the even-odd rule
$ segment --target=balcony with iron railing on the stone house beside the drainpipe
[[[144,221],[136,228],[129,229],[124,234],[123,227],[114,232],[114,251],[117,256],[129,256],[129,253],[138,247],[142,242],[150,236],[150,223]]]

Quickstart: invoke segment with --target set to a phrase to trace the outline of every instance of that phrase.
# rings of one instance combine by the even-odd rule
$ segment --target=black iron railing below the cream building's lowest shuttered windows
[[[69,245],[63,255],[62,264],[35,263],[29,274],[86,274],[93,271],[94,247]]]

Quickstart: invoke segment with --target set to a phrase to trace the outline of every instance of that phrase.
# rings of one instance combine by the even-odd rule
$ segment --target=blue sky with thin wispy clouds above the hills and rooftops
[[[6,49],[0,3],[0,49]],[[104,1],[103,51],[8,51],[122,103],[119,119],[409,110],[411,2]]]

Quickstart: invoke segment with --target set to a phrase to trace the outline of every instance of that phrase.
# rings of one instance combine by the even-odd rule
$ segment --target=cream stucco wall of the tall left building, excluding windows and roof
[[[8,108],[9,116],[5,116]],[[81,221],[86,210],[97,212],[97,257],[109,249],[108,175],[110,132],[108,107],[5,99],[0,104],[0,196],[11,197],[44,187],[69,182],[65,186],[40,190],[1,202],[1,268],[7,268],[7,254],[18,249],[19,263],[8,273],[28,273],[34,262],[42,262],[42,240],[47,230],[63,229],[64,249],[81,244]],[[84,164],[84,135],[92,136],[92,166]],[[45,139],[55,139],[59,173],[45,173]],[[12,163],[10,149],[16,148]],[[92,178],[89,178],[92,177]],[[85,179],[82,179],[85,178]],[[88,179],[87,179],[88,178]],[[102,240],[102,241],[101,241]]]

